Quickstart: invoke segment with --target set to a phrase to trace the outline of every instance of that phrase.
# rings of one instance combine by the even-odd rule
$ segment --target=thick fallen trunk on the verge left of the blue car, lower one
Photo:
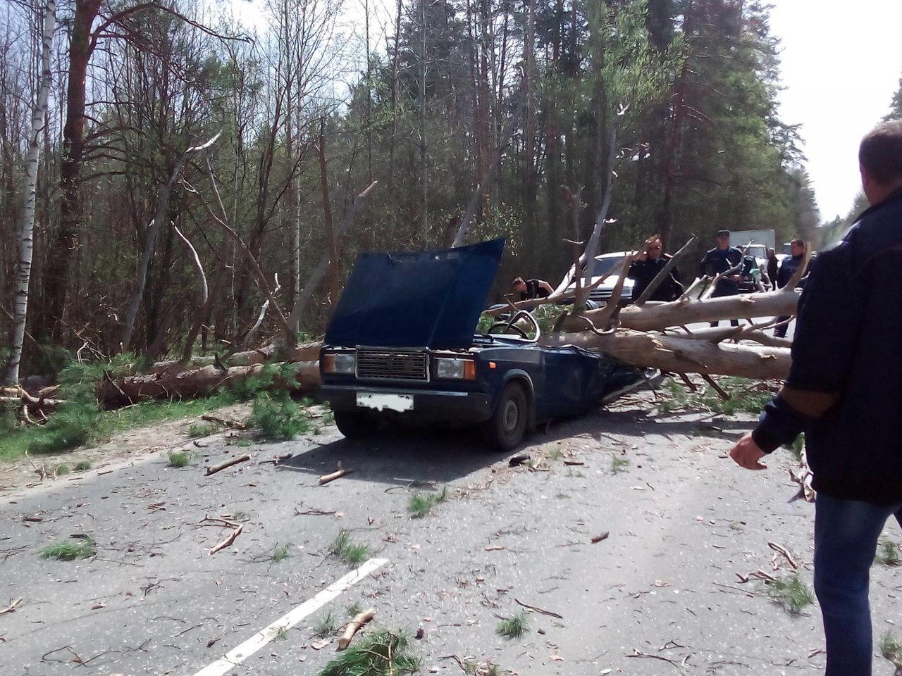
[[[273,364],[274,366],[277,364]],[[319,362],[292,362],[295,378],[280,382],[274,387],[288,388],[294,392],[312,392],[319,385]],[[216,366],[181,371],[156,373],[121,380],[106,379],[97,389],[97,402],[105,408],[137,404],[150,399],[205,397],[230,383],[246,380],[260,373],[262,364],[233,366],[222,370]]]

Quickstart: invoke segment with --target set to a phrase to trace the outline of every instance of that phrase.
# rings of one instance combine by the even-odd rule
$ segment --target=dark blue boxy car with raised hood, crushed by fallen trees
[[[642,382],[603,354],[539,344],[528,312],[474,333],[503,244],[358,257],[319,358],[318,398],[342,434],[389,420],[467,422],[508,450],[535,425]]]

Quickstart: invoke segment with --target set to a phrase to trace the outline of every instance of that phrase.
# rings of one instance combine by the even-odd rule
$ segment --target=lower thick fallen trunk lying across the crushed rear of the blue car
[[[787,348],[712,342],[670,333],[619,329],[608,333],[551,333],[545,345],[577,345],[640,367],[676,373],[786,379],[792,358]]]

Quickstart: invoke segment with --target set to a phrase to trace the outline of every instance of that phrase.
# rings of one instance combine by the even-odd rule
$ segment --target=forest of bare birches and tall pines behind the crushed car
[[[507,239],[499,296],[556,283],[600,217],[599,251],[698,257],[841,226],[778,118],[763,3],[350,3],[5,3],[7,379],[317,336],[357,252],[462,224]]]

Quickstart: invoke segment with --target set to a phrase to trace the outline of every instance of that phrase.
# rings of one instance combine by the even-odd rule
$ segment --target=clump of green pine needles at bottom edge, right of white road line
[[[416,673],[420,660],[403,633],[377,629],[340,653],[317,676],[405,676]]]

